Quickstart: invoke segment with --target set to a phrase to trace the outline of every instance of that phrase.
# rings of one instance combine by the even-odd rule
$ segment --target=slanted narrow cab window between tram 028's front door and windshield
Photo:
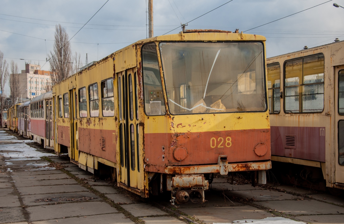
[[[164,115],[166,110],[155,43],[146,44],[142,47],[142,74],[144,111],[148,116]]]

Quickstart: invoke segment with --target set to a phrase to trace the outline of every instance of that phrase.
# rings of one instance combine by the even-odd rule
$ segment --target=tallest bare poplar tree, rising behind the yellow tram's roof
[[[50,54],[50,68],[54,74],[52,81],[55,85],[72,74],[71,44],[68,42],[68,34],[61,24],[55,26],[54,52],[50,52]]]

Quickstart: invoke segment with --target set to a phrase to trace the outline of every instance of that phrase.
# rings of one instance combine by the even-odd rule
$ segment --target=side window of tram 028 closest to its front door
[[[114,103],[114,82],[112,78],[101,82],[101,108],[103,117],[113,117],[115,115]]]

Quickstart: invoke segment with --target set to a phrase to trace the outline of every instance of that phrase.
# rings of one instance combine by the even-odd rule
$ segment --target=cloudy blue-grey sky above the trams
[[[224,4],[228,0],[153,0],[154,36],[162,35]],[[25,61],[49,70],[55,25],[60,23],[71,38],[106,0],[1,0],[0,50],[9,62],[25,69]],[[246,31],[256,26],[316,6],[326,0],[233,0],[189,23],[187,29]],[[344,40],[344,0],[321,6],[261,26],[247,33],[267,38],[267,57]],[[85,63],[101,58],[147,37],[146,0],[109,0],[71,40],[73,52]],[[148,14],[147,14],[148,16]],[[7,32],[6,32],[7,31]],[[171,33],[178,33],[176,29]],[[21,34],[21,35],[19,35]],[[20,60],[24,59],[24,60]],[[9,95],[9,88],[6,91]]]

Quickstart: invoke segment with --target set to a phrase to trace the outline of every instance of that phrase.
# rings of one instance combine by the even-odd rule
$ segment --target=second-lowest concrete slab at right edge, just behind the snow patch
[[[318,214],[344,214],[344,207],[320,202],[316,200],[285,200],[281,201],[266,201],[266,202],[255,202],[264,207],[270,209],[276,209],[279,212],[292,215],[318,215]]]

